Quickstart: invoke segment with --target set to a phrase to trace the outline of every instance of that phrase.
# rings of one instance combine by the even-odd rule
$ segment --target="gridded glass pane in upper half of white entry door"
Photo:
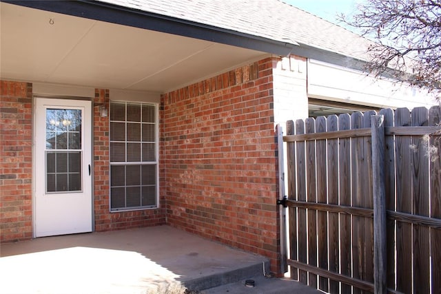
[[[46,109],[46,192],[81,191],[81,109]]]

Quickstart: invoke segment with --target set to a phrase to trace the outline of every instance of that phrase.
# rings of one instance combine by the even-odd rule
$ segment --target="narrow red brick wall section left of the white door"
[[[0,83],[0,242],[13,242],[32,238],[32,84]]]

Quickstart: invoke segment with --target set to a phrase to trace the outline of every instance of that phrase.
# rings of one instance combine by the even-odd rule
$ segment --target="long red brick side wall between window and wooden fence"
[[[174,227],[265,255],[278,271],[278,193],[268,58],[161,98],[161,195]]]

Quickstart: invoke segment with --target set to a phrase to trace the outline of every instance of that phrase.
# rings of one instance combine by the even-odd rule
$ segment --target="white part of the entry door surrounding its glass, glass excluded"
[[[46,191],[46,109],[81,110],[81,190]],[[33,236],[93,231],[92,101],[56,98],[34,100]],[[67,135],[66,135],[67,136]]]

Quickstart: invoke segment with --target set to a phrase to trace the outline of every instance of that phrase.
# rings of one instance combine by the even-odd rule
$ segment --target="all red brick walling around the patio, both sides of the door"
[[[160,209],[109,211],[109,117],[94,107],[96,231],[156,224],[271,259],[278,271],[273,74],[268,58],[161,97]],[[109,106],[96,89],[94,103]],[[32,237],[32,85],[1,82],[1,240]]]

